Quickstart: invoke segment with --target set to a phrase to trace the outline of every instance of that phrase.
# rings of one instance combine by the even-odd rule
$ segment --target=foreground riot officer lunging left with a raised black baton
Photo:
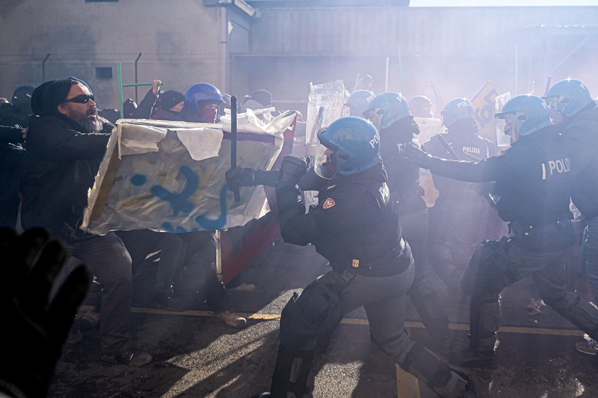
[[[297,184],[306,175],[307,163],[286,156],[276,183],[277,208],[285,242],[312,243],[332,270],[301,295],[294,294],[283,309],[270,393],[262,397],[309,393],[316,337],[328,334],[344,314],[361,306],[372,340],[403,369],[441,397],[477,397],[466,375],[451,371],[405,332],[405,294],[413,281],[414,261],[386,184],[376,128],[347,116],[321,129],[318,138],[327,148],[327,161],[313,169],[329,180],[319,189],[318,206],[306,214]],[[229,186],[255,180],[255,175],[249,179],[235,170],[227,172]]]

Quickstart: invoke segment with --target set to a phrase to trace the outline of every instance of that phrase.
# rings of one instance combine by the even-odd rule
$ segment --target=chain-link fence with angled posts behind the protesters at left
[[[141,56],[139,56],[141,55]],[[217,55],[173,57],[160,54],[54,55],[14,59],[0,57],[0,97],[9,98],[22,85],[38,86],[44,81],[74,76],[89,84],[100,109],[118,108],[118,63],[123,84],[164,82],[164,90],[185,92],[197,82],[224,81],[225,62]],[[124,87],[123,97],[139,103],[149,87]]]

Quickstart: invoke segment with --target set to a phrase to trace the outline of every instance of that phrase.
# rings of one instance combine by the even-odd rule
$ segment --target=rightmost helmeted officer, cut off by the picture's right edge
[[[550,116],[571,161],[571,199],[586,223],[579,266],[598,300],[598,106],[585,84],[576,79],[557,82],[547,94]],[[598,353],[595,340],[575,347],[582,353]]]

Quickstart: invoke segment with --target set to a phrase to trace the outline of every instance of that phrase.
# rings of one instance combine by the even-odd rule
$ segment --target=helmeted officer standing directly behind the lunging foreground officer
[[[451,348],[449,317],[437,292],[425,278],[425,267],[429,266],[428,207],[419,185],[419,166],[399,155],[399,147],[406,143],[420,147],[416,138],[419,127],[413,120],[407,100],[398,92],[376,95],[370,108],[373,115],[382,112],[377,122],[380,126],[380,156],[388,172],[388,187],[403,237],[411,246],[416,261],[415,278],[407,294],[430,337],[426,346],[446,354]]]

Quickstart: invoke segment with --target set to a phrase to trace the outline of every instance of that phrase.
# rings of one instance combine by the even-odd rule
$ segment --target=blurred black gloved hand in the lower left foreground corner
[[[2,357],[9,364],[0,374],[0,391],[14,396],[47,394],[62,344],[91,280],[85,266],[77,267],[50,301],[66,249],[48,240],[43,229],[30,229],[19,237],[13,230],[0,229]]]

